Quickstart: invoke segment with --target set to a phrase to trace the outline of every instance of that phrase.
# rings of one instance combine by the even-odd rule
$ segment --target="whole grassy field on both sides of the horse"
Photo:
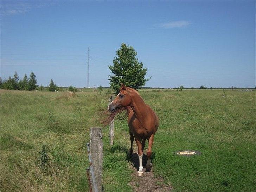
[[[256,91],[225,93],[140,91],[160,119],[153,171],[173,191],[256,191]],[[89,128],[101,126],[107,91],[73,97],[1,90],[0,96],[0,191],[86,191]],[[115,121],[112,147],[108,132],[103,128],[104,190],[132,191],[127,122]],[[201,155],[175,154],[185,149]]]

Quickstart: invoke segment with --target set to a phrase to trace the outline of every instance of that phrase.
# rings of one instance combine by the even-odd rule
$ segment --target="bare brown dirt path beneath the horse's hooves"
[[[134,152],[131,161],[134,166],[133,168],[133,175],[132,181],[130,185],[133,187],[134,192],[167,192],[171,191],[172,187],[168,185],[164,185],[164,179],[162,178],[155,178],[154,177],[154,165],[152,165],[151,171],[146,172],[146,169],[143,169],[143,176],[138,176],[139,170],[139,156],[137,154],[137,146],[133,147]],[[136,150],[136,151],[135,151]],[[144,150],[146,151],[146,150]],[[146,167],[147,164],[147,156],[143,154],[142,157],[142,165]]]

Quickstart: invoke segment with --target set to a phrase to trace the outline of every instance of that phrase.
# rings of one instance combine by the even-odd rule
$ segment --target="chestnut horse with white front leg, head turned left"
[[[121,110],[120,110],[121,109]],[[147,164],[146,169],[151,169],[151,154],[152,145],[154,141],[154,135],[159,126],[158,116],[155,112],[143,101],[139,93],[132,88],[126,87],[121,84],[120,92],[116,98],[108,105],[108,110],[112,115],[112,118],[116,115],[115,112],[126,109],[128,113],[128,126],[130,132],[130,155],[133,153],[133,141],[135,138],[138,146],[139,155],[139,171],[138,175],[142,176],[142,155],[145,147],[146,139],[148,140],[147,149]]]

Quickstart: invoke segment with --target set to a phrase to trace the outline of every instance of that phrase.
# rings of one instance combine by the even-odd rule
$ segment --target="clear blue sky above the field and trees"
[[[147,87],[255,87],[256,1],[3,1],[0,76],[109,86],[121,43],[148,68]]]

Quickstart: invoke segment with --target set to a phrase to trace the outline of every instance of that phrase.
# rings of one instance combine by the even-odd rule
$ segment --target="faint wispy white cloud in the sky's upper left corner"
[[[17,2],[10,4],[1,4],[0,5],[0,15],[2,16],[11,16],[22,13],[29,12],[32,8],[42,8],[53,5],[54,2],[38,2],[37,4],[30,4],[26,2]]]

